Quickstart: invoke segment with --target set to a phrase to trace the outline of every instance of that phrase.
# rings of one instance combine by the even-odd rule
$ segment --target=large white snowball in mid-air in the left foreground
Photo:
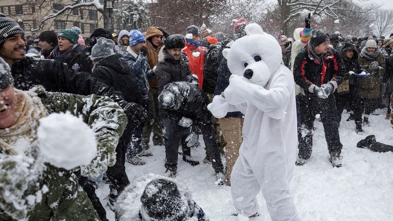
[[[70,113],[54,113],[39,120],[37,129],[43,160],[64,169],[89,165],[97,154],[93,130]]]

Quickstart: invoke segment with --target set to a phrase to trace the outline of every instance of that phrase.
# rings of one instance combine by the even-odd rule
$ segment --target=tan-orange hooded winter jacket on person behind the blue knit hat
[[[157,36],[157,35],[163,35],[162,32],[155,27],[150,27],[147,29],[145,38],[146,38],[146,48],[147,48],[147,62],[150,65],[150,69],[153,69],[157,64],[158,64],[158,54],[160,52],[160,49],[162,46],[164,46],[164,43],[161,42],[161,45],[156,48],[155,46],[152,45],[151,43],[151,37]],[[150,87],[158,87],[158,80],[157,77],[153,77],[149,79],[149,85]]]

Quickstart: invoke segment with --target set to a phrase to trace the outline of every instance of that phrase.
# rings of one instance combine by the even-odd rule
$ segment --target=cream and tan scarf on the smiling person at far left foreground
[[[27,138],[30,143],[36,140],[38,120],[47,115],[41,100],[33,99],[23,91],[15,90],[15,93],[18,106],[14,122],[11,126],[0,129],[0,151],[9,155],[18,154],[12,146],[21,137]]]

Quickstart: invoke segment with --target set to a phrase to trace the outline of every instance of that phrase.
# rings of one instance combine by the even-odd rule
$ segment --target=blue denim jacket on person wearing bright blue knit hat
[[[130,47],[127,48],[127,51],[123,52],[123,56],[128,63],[130,71],[137,77],[140,92],[143,96],[147,97],[147,92],[149,91],[147,79],[152,78],[154,73],[147,63],[146,56],[137,55]]]

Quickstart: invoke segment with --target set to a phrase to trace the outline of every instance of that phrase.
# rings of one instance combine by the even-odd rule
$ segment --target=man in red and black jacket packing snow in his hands
[[[296,165],[303,165],[311,156],[312,129],[315,115],[320,114],[326,143],[333,166],[340,167],[342,144],[338,133],[337,108],[333,92],[344,76],[340,55],[329,47],[329,36],[313,31],[306,48],[294,63],[294,79],[301,89],[301,125],[298,129],[299,154]]]

